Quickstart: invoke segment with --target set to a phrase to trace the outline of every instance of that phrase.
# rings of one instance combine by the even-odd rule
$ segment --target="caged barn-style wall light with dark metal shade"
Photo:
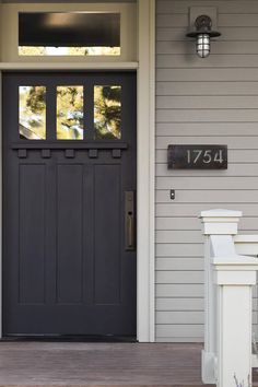
[[[210,55],[210,38],[220,36],[221,33],[212,31],[212,21],[208,15],[200,15],[195,22],[196,31],[189,32],[187,37],[196,38],[196,52],[200,58],[207,58]]]

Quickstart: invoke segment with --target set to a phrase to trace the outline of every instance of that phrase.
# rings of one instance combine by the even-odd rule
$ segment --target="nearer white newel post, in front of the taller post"
[[[214,263],[218,284],[218,386],[239,387],[242,383],[242,386],[250,387],[251,286],[256,283],[256,271],[237,268],[236,261],[228,261],[226,266],[225,261],[218,259]]]

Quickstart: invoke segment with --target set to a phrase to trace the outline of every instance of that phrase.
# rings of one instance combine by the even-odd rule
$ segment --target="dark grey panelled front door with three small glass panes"
[[[3,333],[136,335],[136,74],[3,74]]]

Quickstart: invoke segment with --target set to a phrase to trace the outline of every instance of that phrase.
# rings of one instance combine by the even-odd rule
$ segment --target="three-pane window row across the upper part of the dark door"
[[[50,139],[48,122],[55,115],[51,140],[120,140],[121,93],[119,84],[20,85],[20,139]]]

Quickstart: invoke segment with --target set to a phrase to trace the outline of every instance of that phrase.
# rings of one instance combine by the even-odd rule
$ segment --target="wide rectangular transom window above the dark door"
[[[19,56],[120,56],[120,13],[20,12]]]

